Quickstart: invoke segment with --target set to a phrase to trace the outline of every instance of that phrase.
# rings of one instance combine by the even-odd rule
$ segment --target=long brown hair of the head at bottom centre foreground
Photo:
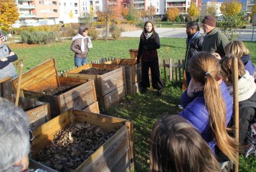
[[[220,171],[211,150],[192,125],[178,115],[164,115],[151,134],[151,171]]]

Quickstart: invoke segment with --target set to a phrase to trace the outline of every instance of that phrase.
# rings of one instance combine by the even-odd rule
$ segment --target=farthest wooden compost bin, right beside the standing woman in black
[[[136,59],[115,59],[104,64],[124,66],[127,93],[135,95],[139,92],[141,85],[141,63],[136,63]]]

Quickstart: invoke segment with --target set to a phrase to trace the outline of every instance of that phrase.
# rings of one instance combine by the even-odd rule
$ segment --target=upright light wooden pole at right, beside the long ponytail
[[[239,103],[238,103],[238,59],[232,59],[232,79],[233,79],[233,109],[235,116],[235,141],[239,145]],[[234,164],[235,172],[239,169],[239,150],[237,150],[238,164]]]

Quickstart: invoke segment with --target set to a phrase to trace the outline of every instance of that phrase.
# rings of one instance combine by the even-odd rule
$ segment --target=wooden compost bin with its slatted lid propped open
[[[16,90],[17,83],[18,78],[15,78],[13,86]],[[43,90],[56,89],[61,86],[73,88],[60,95],[43,94]],[[21,89],[22,97],[50,103],[52,118],[70,108],[86,108],[97,100],[93,80],[58,76],[53,58],[23,73]]]

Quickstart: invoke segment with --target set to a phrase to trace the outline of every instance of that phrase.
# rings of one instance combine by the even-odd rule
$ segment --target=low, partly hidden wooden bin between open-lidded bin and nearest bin
[[[15,102],[16,95],[9,95],[9,101]],[[19,97],[18,106],[21,107],[28,115],[29,127],[34,130],[40,125],[51,119],[50,105],[38,100]]]

